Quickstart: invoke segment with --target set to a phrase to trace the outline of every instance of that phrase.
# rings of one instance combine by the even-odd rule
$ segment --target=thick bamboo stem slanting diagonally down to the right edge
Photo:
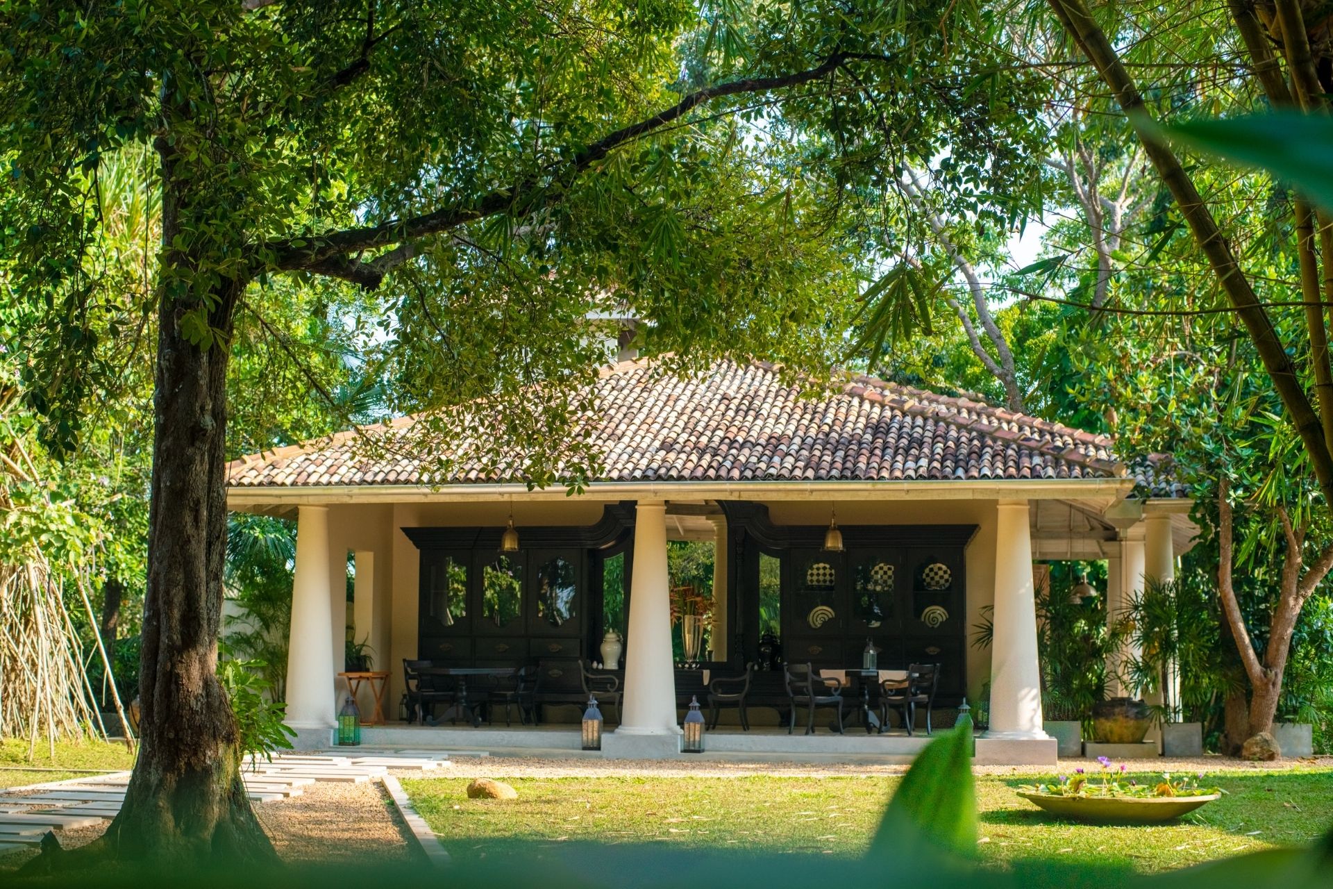
[[[1232,253],[1230,244],[1217,228],[1217,221],[1198,189],[1194,188],[1194,183],[1185,172],[1180,159],[1162,141],[1161,136],[1149,128],[1148,109],[1138,88],[1084,1],[1048,1],[1064,28],[1078,43],[1088,59],[1096,65],[1101,79],[1114,92],[1116,101],[1129,115],[1148,159],[1170,191],[1176,205],[1180,207],[1194,241],[1208,259],[1228,301],[1236,308],[1236,313],[1245,324],[1260,360],[1264,363],[1264,369],[1268,371],[1273,388],[1292,416],[1297,435],[1301,436],[1318,478],[1320,490],[1324,493],[1324,501],[1329,509],[1333,509],[1333,454],[1329,453],[1324,437],[1322,421],[1305,395],[1296,364],[1286,353],[1272,319],[1260,305],[1249,279],[1245,277],[1245,272]]]

